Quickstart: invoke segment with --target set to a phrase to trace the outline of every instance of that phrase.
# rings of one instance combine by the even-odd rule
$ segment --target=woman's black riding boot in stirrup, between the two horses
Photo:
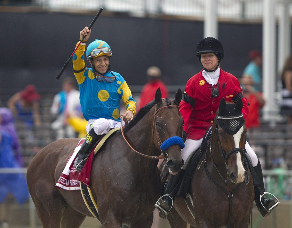
[[[185,170],[180,170],[178,174],[172,175],[169,174],[169,178],[167,181],[167,185],[162,197],[158,199],[155,204],[155,207],[160,211],[159,216],[163,219],[169,214],[170,209],[172,208],[174,196],[175,196],[175,188],[178,183],[181,181]]]

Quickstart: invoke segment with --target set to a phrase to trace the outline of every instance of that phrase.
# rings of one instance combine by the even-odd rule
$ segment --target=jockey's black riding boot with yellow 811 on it
[[[78,151],[78,157],[74,161],[74,167],[78,172],[81,172],[92,148],[95,146],[96,142],[100,139],[100,137],[101,135],[96,134],[93,128],[87,134],[84,143],[82,144],[80,150]]]

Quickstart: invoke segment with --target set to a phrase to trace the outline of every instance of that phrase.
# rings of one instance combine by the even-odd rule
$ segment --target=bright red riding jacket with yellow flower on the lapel
[[[183,130],[187,133],[187,139],[198,140],[204,136],[206,130],[214,121],[216,111],[223,97],[226,101],[232,102],[235,95],[242,94],[238,79],[220,69],[217,83],[217,85],[220,83],[218,88],[219,95],[212,98],[202,71],[195,74],[186,83],[184,100],[186,100],[186,95],[189,96],[193,99],[193,106],[184,100],[179,104],[179,111],[185,122]],[[249,106],[246,98],[242,98],[242,102],[242,113],[243,117],[246,118],[249,113]]]

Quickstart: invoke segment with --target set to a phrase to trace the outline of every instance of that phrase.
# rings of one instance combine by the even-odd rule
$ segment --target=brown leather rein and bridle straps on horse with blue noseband
[[[161,111],[162,109],[172,108],[172,107],[176,107],[176,108],[179,109],[179,106],[178,106],[178,105],[169,105],[169,106],[163,106],[162,108],[156,110],[156,109],[157,109],[157,104],[155,105],[155,111],[154,111],[154,115],[153,115],[152,132],[155,131],[156,136],[157,136],[157,138],[158,138],[158,142],[159,142],[160,145],[162,144],[162,141],[160,140],[159,135],[158,135],[157,127],[156,127],[156,124],[155,124],[155,123],[156,123],[156,117],[155,117],[155,116],[156,116],[156,114],[157,114],[159,111]],[[143,157],[150,158],[150,159],[153,159],[153,160],[167,158],[168,154],[165,153],[163,150],[162,150],[163,155],[159,155],[159,156],[150,156],[150,155],[142,154],[142,153],[138,152],[137,150],[135,150],[135,149],[130,145],[130,143],[127,141],[127,139],[126,139],[126,137],[125,137],[125,135],[124,135],[124,131],[123,131],[123,117],[121,117],[121,123],[122,123],[122,125],[121,125],[121,132],[122,132],[123,138],[124,138],[124,140],[126,141],[126,143],[129,145],[129,147],[130,147],[130,148],[131,148],[136,154],[139,154],[139,155],[141,155],[141,156],[143,156]],[[153,135],[153,134],[152,134],[152,135]]]

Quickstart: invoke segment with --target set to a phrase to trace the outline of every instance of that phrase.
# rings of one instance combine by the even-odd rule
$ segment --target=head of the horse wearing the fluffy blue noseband
[[[161,148],[167,160],[171,174],[177,174],[183,165],[181,156],[183,119],[178,105],[182,99],[182,92],[176,92],[174,100],[162,99],[160,88],[155,94],[155,113],[153,122],[153,138],[155,145]]]

